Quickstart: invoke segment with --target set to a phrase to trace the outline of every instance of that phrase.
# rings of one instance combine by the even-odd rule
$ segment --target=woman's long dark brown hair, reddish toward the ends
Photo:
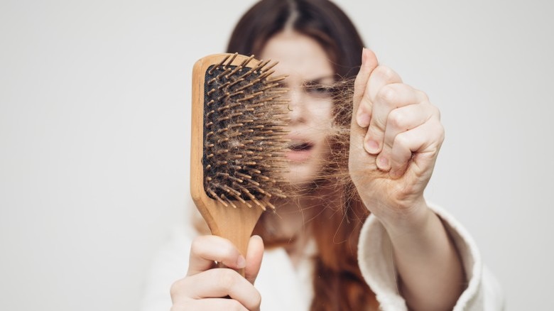
[[[337,80],[347,81],[337,84],[343,86],[335,89],[335,95],[341,97],[338,102],[346,100],[351,103],[352,92],[348,90],[352,90],[351,82],[361,65],[364,45],[352,21],[330,1],[261,0],[237,23],[227,52],[257,55],[271,36],[286,27],[310,36],[322,45],[334,66]],[[334,199],[321,198],[322,212],[309,226],[318,251],[313,258],[315,295],[310,310],[376,310],[375,295],[364,282],[357,261],[359,231],[369,212],[349,180],[349,136],[341,134],[341,129],[342,132],[349,129],[352,109],[344,109],[342,104],[336,106],[337,136],[328,138],[332,160],[321,178],[326,180],[327,190],[331,190],[326,191],[327,195]],[[272,215],[262,215],[255,232],[262,236],[266,246],[271,247],[280,244],[283,237],[269,229],[276,219],[268,217]]]

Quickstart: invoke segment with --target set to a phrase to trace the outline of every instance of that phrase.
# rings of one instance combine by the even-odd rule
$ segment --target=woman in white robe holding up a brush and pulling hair
[[[363,46],[327,0],[263,0],[241,18],[228,51],[288,74],[287,178],[304,193],[262,216],[246,258],[217,236],[182,233],[162,257],[182,267],[188,254],[188,271],[157,272],[174,282],[172,310],[501,308],[465,231],[423,199],[444,136],[438,109]],[[335,84],[354,77],[353,97]],[[352,99],[351,113],[340,103]]]

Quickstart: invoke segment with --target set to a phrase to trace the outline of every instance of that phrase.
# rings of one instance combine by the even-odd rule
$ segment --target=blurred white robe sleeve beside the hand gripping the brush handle
[[[153,259],[145,281],[141,311],[170,310],[171,285],[187,274],[190,244],[195,236],[190,227],[177,227]]]

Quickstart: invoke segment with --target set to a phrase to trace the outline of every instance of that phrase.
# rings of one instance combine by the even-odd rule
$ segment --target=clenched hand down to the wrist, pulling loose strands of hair
[[[349,173],[366,207],[386,227],[425,221],[423,190],[443,138],[440,113],[427,95],[403,84],[364,49],[354,85]]]

